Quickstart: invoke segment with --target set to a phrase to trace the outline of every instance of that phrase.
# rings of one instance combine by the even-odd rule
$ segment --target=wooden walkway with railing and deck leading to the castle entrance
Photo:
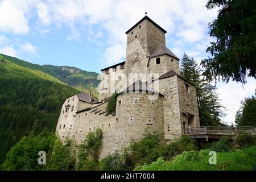
[[[256,134],[256,126],[244,127],[216,127],[216,126],[203,126],[192,127],[191,129],[184,129],[184,134],[189,135],[195,139],[220,139],[222,136],[230,136],[233,139],[239,133]]]

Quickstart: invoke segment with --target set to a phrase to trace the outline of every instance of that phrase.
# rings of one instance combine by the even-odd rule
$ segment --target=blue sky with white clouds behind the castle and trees
[[[0,53],[35,64],[67,65],[100,73],[125,61],[126,34],[145,15],[166,34],[167,47],[198,63],[210,56],[205,49],[214,39],[208,22],[217,9],[206,0],[0,0]],[[227,123],[234,123],[240,101],[254,94],[256,80],[247,84],[217,82]]]

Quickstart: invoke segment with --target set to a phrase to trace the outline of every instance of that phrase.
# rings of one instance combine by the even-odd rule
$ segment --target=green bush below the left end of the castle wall
[[[53,150],[51,152],[47,170],[67,171],[75,169],[75,142],[67,139],[63,144],[59,138],[55,140]]]

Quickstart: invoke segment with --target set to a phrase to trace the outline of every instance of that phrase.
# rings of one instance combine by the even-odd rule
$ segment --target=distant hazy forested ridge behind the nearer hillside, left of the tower
[[[34,71],[44,72],[47,75],[55,77],[65,84],[72,86],[80,91],[87,93],[92,91],[94,96],[98,96],[97,85],[100,82],[100,80],[97,80],[98,73],[83,71],[75,67],[32,64],[27,61],[20,60],[16,57],[3,54],[0,55],[12,63],[20,65],[24,68],[32,69]]]

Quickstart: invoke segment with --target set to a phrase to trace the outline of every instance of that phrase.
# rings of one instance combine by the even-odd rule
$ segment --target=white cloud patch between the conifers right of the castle
[[[247,84],[242,87],[241,83],[234,81],[225,84],[223,82],[217,84],[217,92],[220,93],[219,98],[222,100],[221,104],[226,107],[226,118],[224,121],[227,123],[234,123],[236,111],[240,107],[240,101],[245,97],[254,95],[256,88],[256,80],[254,78],[248,78]]]

